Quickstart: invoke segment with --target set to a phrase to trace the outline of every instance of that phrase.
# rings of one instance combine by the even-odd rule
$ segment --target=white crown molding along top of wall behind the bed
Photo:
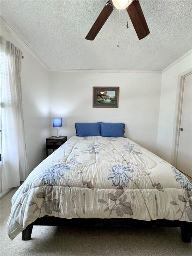
[[[161,74],[160,70],[105,70],[105,69],[49,69],[51,72],[82,72],[82,73],[155,73]]]

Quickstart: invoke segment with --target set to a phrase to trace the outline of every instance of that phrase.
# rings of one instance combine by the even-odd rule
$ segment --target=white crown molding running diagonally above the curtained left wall
[[[1,25],[3,25],[3,27],[10,32],[10,34],[16,38],[19,43],[25,48],[27,49],[30,54],[39,61],[39,63],[47,70],[49,71],[48,66],[37,56],[37,54],[23,41],[23,39],[21,39],[21,37],[4,21],[4,19],[1,17]]]

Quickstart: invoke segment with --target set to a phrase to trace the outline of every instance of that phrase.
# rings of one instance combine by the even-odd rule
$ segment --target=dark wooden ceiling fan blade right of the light
[[[150,31],[138,0],[133,1],[129,5],[128,14],[139,40],[149,35]]]

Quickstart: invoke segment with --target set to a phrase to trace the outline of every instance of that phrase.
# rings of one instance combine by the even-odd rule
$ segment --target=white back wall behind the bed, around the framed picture
[[[123,122],[128,138],[156,153],[161,74],[50,72],[50,83],[51,118],[63,118],[61,135],[75,135],[76,122]],[[93,108],[93,86],[119,86],[119,107]]]

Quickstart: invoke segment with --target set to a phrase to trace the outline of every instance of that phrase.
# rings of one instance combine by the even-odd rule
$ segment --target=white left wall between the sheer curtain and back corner
[[[50,136],[49,73],[1,22],[1,35],[23,51],[22,101],[29,168],[45,158],[45,138]]]

